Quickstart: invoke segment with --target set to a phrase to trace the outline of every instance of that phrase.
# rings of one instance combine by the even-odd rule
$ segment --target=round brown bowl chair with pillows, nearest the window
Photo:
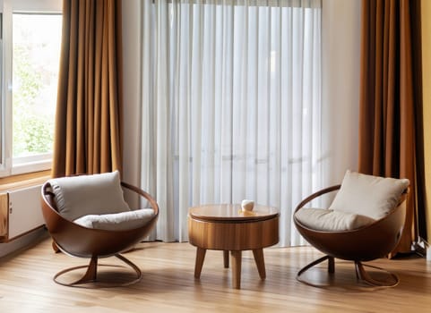
[[[151,208],[130,209],[123,191],[131,190]],[[67,286],[99,287],[136,283],[142,271],[121,255],[147,236],[157,222],[159,207],[147,192],[120,182],[117,171],[53,178],[42,186],[42,213],[53,247],[68,255],[90,258],[88,266],[74,266],[58,272],[54,281]],[[133,278],[121,283],[100,280],[99,258],[116,257],[133,269]],[[65,275],[78,269],[86,272],[78,280]],[[71,273],[72,274],[72,273]],[[123,277],[124,278],[124,277]]]

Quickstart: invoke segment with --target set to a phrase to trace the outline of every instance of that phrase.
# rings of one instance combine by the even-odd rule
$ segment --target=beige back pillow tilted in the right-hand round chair
[[[329,208],[380,219],[396,207],[407,187],[408,179],[384,178],[348,170]]]

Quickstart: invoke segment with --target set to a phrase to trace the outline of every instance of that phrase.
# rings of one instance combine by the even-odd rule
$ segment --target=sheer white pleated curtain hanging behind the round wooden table
[[[293,209],[322,187],[321,1],[145,1],[142,188],[157,239],[187,240],[188,207]]]

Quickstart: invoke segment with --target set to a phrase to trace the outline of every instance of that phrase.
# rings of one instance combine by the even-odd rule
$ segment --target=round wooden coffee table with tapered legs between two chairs
[[[266,278],[263,248],[279,242],[278,209],[254,206],[242,211],[240,205],[222,204],[190,207],[189,242],[196,250],[194,277],[201,276],[206,250],[223,250],[224,266],[228,268],[228,251],[232,257],[232,286],[241,288],[241,252],[253,250],[261,279]]]

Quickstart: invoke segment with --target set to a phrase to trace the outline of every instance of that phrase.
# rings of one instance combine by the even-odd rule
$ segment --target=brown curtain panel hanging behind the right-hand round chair
[[[408,178],[399,246],[418,237],[418,125],[421,118],[419,0],[363,0],[359,172]]]

